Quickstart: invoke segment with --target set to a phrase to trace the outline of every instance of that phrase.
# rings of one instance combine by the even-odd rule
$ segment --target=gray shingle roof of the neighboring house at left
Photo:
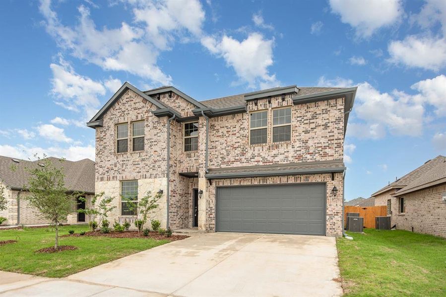
[[[58,158],[48,157],[53,164],[64,168],[65,187],[69,191],[94,193],[94,161],[83,159],[80,161],[60,162]],[[42,161],[19,160],[12,161],[11,157],[0,156],[0,180],[11,188],[23,189],[28,181],[29,174],[26,168],[37,168]],[[15,167],[11,170],[11,165]]]

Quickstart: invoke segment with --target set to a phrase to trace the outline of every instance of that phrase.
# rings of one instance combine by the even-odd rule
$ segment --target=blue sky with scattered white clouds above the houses
[[[346,200],[446,154],[444,1],[4,1],[0,28],[1,155],[93,159],[84,123],[125,81],[358,86]]]

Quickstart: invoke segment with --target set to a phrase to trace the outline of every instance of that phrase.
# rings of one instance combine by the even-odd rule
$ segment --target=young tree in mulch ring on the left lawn
[[[61,160],[61,162],[63,159]],[[57,167],[49,159],[39,160],[37,168],[27,168],[30,177],[26,190],[30,195],[24,196],[31,207],[40,211],[56,228],[54,248],[59,248],[59,223],[74,212],[77,194],[66,194],[64,186],[64,169]]]

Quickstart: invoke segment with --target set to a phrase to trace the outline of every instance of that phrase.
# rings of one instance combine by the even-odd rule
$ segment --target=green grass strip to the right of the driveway
[[[446,240],[403,230],[337,239],[345,296],[446,296]]]

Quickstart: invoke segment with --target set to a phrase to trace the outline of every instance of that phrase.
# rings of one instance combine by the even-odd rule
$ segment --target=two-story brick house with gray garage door
[[[344,135],[356,88],[273,88],[196,101],[125,83],[87,123],[96,193],[163,191],[162,228],[342,235]],[[332,191],[336,187],[337,195]]]

